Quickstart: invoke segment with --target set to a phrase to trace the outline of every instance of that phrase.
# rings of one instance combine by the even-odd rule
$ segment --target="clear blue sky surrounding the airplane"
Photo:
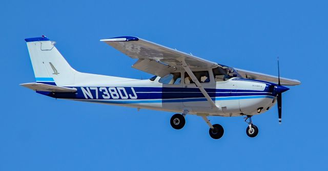
[[[0,170],[327,170],[326,1],[4,1],[0,3]],[[224,65],[302,81],[276,107],[253,117],[210,118],[55,100],[33,82],[26,37],[46,35],[73,68],[131,78],[149,74],[99,39],[138,36]],[[319,91],[316,92],[316,91]]]

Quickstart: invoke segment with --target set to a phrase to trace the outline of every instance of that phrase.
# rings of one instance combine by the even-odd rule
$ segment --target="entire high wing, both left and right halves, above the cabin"
[[[182,63],[185,62],[191,70],[208,70],[222,67],[229,70],[229,73],[236,77],[278,82],[278,77],[276,76],[227,67],[138,37],[114,37],[101,39],[100,41],[106,42],[106,44],[131,58],[138,59],[132,68],[160,77],[177,69],[183,70]],[[282,85],[288,86],[300,84],[300,81],[288,78],[280,78],[280,81]]]

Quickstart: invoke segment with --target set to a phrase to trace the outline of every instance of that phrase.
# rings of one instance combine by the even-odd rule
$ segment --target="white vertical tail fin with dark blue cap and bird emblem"
[[[34,37],[25,39],[29,50],[36,82],[54,86],[74,84],[77,73],[54,46],[49,38]]]

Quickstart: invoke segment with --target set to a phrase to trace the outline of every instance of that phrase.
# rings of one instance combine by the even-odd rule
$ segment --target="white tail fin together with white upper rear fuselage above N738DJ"
[[[26,38],[25,41],[29,50],[35,80],[37,83],[43,83],[57,87],[81,87],[106,85],[110,82],[117,81],[135,80],[130,78],[81,73],[75,71],[65,60],[63,55],[59,53],[55,47],[55,42],[50,41],[48,37],[42,36]],[[24,85],[22,86],[33,87],[36,84]],[[42,84],[37,85],[39,86]],[[49,88],[49,86],[43,85],[42,88],[44,87],[49,90],[54,89],[53,87]],[[40,86],[36,88],[40,88]]]

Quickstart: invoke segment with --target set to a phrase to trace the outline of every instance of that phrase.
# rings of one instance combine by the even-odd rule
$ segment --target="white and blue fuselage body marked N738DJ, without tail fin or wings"
[[[213,108],[195,84],[162,84],[155,80],[99,81],[70,86],[75,93],[38,92],[55,98],[130,106],[189,114],[216,116],[256,115],[274,105],[275,95],[269,88],[274,83],[231,78],[227,81],[202,83],[218,108]]]

